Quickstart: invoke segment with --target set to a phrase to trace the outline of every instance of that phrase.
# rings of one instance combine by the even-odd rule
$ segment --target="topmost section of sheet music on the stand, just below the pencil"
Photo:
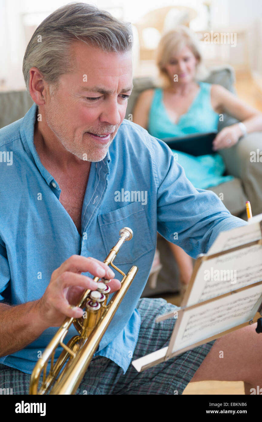
[[[245,243],[254,242],[262,238],[259,222],[262,220],[262,214],[253,217],[249,224],[235,229],[220,232],[209,249],[207,255],[217,254]]]

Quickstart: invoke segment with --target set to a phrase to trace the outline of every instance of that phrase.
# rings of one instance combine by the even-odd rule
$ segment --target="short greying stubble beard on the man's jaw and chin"
[[[61,109],[60,109],[61,110]],[[104,160],[104,157],[107,155],[107,151],[109,146],[111,145],[112,141],[115,138],[115,135],[118,132],[119,126],[114,133],[114,137],[110,139],[107,144],[99,144],[99,143],[92,143],[92,139],[88,140],[88,146],[83,145],[83,136],[84,133],[87,132],[86,130],[82,133],[74,134],[73,138],[70,137],[71,127],[67,125],[64,119],[61,120],[61,111],[59,111],[58,103],[53,96],[50,99],[50,103],[48,106],[48,112],[45,112],[46,122],[48,127],[52,130],[52,132],[56,135],[56,138],[59,139],[61,144],[64,146],[64,149],[69,151],[71,154],[75,155],[76,157],[80,158],[80,160],[90,161],[90,162],[97,162]],[[97,128],[88,128],[90,132],[95,133]],[[112,129],[111,129],[112,130]],[[104,128],[104,131],[111,131],[108,126]],[[101,129],[100,129],[101,131]],[[88,135],[86,135],[87,137]],[[112,135],[111,135],[112,136]]]

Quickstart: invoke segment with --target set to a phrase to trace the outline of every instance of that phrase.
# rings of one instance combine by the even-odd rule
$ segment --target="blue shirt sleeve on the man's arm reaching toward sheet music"
[[[196,189],[163,141],[153,138],[158,184],[158,232],[191,257],[208,252],[221,231],[247,224],[209,190]]]

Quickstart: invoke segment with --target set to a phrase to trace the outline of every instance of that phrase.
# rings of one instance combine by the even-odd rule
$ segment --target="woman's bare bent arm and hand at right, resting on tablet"
[[[211,105],[218,114],[227,113],[240,120],[246,127],[246,133],[262,130],[262,113],[221,85],[212,85]],[[238,123],[224,127],[213,141],[214,151],[233,146],[246,133]]]

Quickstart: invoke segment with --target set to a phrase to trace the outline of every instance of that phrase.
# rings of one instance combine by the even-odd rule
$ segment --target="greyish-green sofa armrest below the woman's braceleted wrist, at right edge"
[[[251,202],[253,215],[262,213],[262,165],[259,162],[259,158],[262,161],[262,156],[259,156],[259,152],[257,154],[257,150],[262,151],[262,132],[249,133],[231,148],[219,151],[225,161],[227,173],[241,179],[244,192]]]

